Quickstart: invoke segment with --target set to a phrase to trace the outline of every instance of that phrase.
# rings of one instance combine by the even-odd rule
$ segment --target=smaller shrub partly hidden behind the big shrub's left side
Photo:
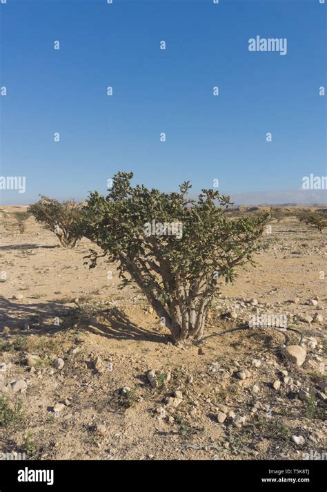
[[[28,207],[28,211],[37,222],[54,232],[63,247],[73,248],[83,236],[81,208],[75,200],[59,202],[42,196],[39,202]]]

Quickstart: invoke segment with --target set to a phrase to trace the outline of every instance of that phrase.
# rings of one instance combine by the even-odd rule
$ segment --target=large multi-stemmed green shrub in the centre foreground
[[[91,250],[90,267],[105,256],[119,263],[122,286],[135,281],[174,341],[204,334],[206,313],[219,281],[232,281],[235,267],[253,264],[269,214],[228,220],[229,197],[212,189],[187,198],[190,185],[163,193],[132,187],[132,173],[119,172],[108,196],[90,193],[84,235],[103,250]]]

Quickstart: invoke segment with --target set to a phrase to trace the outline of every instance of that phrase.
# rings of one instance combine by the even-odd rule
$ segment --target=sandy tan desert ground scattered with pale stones
[[[0,452],[28,460],[301,460],[326,453],[327,231],[271,224],[257,267],[240,270],[206,334],[251,314],[286,314],[304,335],[254,327],[174,346],[115,265],[84,265],[29,218],[0,211]],[[148,372],[155,371],[154,386]],[[2,425],[1,425],[2,422]],[[318,454],[317,454],[318,453]]]

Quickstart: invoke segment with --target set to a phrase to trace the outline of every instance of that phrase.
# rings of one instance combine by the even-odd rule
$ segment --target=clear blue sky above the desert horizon
[[[165,191],[217,178],[237,202],[318,200],[298,190],[326,175],[319,0],[7,0],[0,15],[0,176],[26,176],[3,205],[106,193],[118,170]],[[257,35],[287,38],[287,55],[249,52]]]

